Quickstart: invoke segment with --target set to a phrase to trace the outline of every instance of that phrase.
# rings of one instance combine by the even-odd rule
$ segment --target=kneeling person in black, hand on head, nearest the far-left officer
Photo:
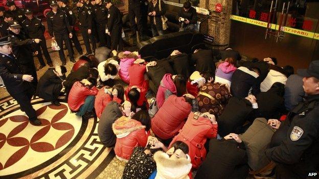
[[[64,66],[56,66],[49,68],[40,78],[36,95],[44,100],[51,101],[55,106],[60,106],[58,101],[62,82],[65,79],[66,68]]]

